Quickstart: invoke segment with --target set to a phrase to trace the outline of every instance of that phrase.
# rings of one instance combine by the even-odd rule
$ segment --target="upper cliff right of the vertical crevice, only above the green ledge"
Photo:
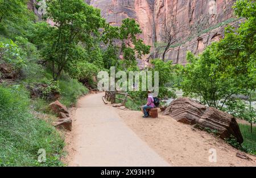
[[[214,24],[232,18],[233,0],[155,0],[156,41],[162,41],[164,24],[179,30],[176,38],[185,40]]]

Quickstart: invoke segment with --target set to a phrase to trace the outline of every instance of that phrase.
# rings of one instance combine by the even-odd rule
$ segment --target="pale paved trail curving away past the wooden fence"
[[[69,166],[170,166],[102,102],[103,93],[82,97],[73,118]]]

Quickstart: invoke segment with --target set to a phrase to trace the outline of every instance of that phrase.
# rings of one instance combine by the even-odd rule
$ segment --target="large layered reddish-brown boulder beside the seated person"
[[[178,122],[196,124],[205,129],[217,130],[222,139],[233,135],[237,138],[237,142],[243,142],[236,118],[224,111],[198,104],[188,98],[179,98],[172,101],[163,114],[170,115]]]

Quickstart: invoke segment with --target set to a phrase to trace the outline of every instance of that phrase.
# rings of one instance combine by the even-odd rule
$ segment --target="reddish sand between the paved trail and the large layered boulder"
[[[153,148],[162,158],[174,166],[256,166],[253,161],[240,159],[238,150],[224,140],[189,125],[159,114],[159,118],[142,118],[141,111],[116,109],[123,121]],[[217,163],[209,162],[209,150],[217,151]]]

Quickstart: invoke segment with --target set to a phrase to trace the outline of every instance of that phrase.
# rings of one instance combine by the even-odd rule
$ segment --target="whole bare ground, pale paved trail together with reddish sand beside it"
[[[205,131],[160,113],[145,119],[141,111],[104,105],[103,95],[82,97],[71,110],[73,131],[66,134],[62,159],[67,165],[256,166],[255,156],[240,159],[238,150]],[[209,162],[212,148],[217,163]]]

